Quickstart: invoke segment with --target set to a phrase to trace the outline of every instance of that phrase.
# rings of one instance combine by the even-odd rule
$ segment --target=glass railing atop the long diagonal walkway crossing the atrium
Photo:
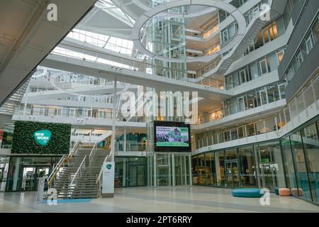
[[[91,51],[84,48],[77,48],[72,46],[74,50],[67,50],[62,48],[65,45],[60,45],[59,48],[55,48],[50,54],[51,55],[62,55],[65,57],[71,57],[79,60],[84,60],[87,62],[101,63],[105,65],[110,65],[111,67],[121,67],[123,69],[133,70],[137,72],[144,72],[146,74],[152,74],[159,77],[167,77],[169,79],[176,79],[181,82],[199,84],[205,89],[225,89],[225,82],[220,79],[214,79],[211,77],[205,77],[205,79],[200,82],[194,82],[193,79],[187,77],[187,70],[179,70],[173,67],[164,67],[162,65],[156,65],[148,62],[140,62],[135,60],[128,60],[123,57],[118,57],[114,55],[109,55],[105,52]]]

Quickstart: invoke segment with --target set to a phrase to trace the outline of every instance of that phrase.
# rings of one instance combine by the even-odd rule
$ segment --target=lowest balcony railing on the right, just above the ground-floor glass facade
[[[209,145],[225,143],[232,140],[247,138],[253,135],[280,131],[294,119],[298,118],[303,111],[308,112],[309,107],[315,109],[315,113],[319,113],[319,71],[316,72],[308,82],[299,89],[284,108],[275,116],[254,121],[249,124],[236,127],[222,128],[216,131],[207,131],[196,135],[193,146],[196,149],[204,148]],[[309,114],[309,113],[308,113]],[[280,133],[279,133],[280,135]]]

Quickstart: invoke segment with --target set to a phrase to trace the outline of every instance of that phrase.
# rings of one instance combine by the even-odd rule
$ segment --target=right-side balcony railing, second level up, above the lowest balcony
[[[257,92],[259,93],[259,92]],[[242,98],[242,97],[241,97]],[[276,87],[268,92],[262,92],[255,96],[249,96],[247,99],[242,98],[244,101],[237,101],[235,104],[226,104],[221,109],[214,109],[208,111],[206,114],[201,114],[198,116],[198,125],[203,123],[208,123],[215,121],[225,116],[230,116],[233,114],[238,114],[243,111],[257,108],[259,106],[264,106],[267,104],[272,104],[275,101],[285,99],[284,94],[281,94],[281,89]]]

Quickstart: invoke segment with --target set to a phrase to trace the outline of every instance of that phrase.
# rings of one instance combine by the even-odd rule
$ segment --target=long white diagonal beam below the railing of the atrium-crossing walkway
[[[56,54],[47,56],[47,58],[41,62],[41,65],[111,80],[117,78],[118,81],[129,84],[156,87],[158,91],[198,92],[198,96],[216,101],[222,101],[233,96],[233,92],[218,89],[216,87],[208,87],[201,84],[185,82],[179,79],[147,74],[145,72],[113,67],[99,62],[89,62],[74,57],[66,57]]]

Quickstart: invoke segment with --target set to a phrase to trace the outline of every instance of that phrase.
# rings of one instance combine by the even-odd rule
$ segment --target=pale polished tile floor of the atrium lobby
[[[0,193],[0,212],[319,212],[319,206],[292,196],[271,194],[270,205],[259,198],[235,198],[230,189],[211,187],[116,189],[114,198],[86,202],[38,204],[35,192]]]

